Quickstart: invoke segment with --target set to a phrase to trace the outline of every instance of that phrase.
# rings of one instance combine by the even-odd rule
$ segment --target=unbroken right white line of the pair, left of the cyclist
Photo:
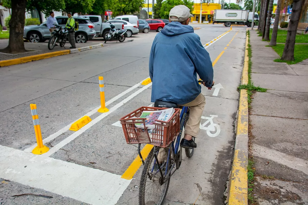
[[[148,87],[150,87],[152,85],[152,83],[145,85],[143,88],[140,88],[139,90],[137,90],[135,93],[132,93],[130,96],[128,96],[127,98],[125,98],[123,101],[119,102],[118,104],[116,104],[115,106],[113,106],[112,108],[109,109],[109,112],[105,112],[101,115],[99,115],[98,117],[96,117],[94,120],[92,120],[91,122],[89,122],[88,124],[86,124],[85,126],[83,126],[82,128],[80,128],[78,131],[74,132],[73,134],[71,134],[70,136],[68,136],[66,139],[64,139],[63,141],[59,142],[58,144],[56,144],[53,148],[51,148],[48,152],[42,154],[41,156],[43,157],[49,157],[51,156],[53,153],[57,152],[60,148],[64,147],[66,144],[68,144],[69,142],[71,142],[72,140],[74,140],[76,137],[78,137],[79,135],[81,135],[84,131],[86,131],[87,129],[91,128],[93,125],[95,125],[96,123],[98,123],[100,120],[102,120],[104,117],[108,116],[110,113],[112,113],[113,111],[115,111],[116,109],[120,108],[122,105],[124,105],[125,103],[127,103],[129,100],[131,100],[133,97],[135,97],[136,95],[138,95],[139,93],[141,93],[142,91],[144,91],[145,89],[147,89]]]

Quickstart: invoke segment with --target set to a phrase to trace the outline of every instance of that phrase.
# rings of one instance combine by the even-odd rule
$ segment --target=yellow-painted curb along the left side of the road
[[[4,60],[0,61],[0,67],[4,66],[9,66],[9,65],[17,65],[21,63],[26,63],[30,61],[37,61],[45,58],[50,58],[50,57],[55,57],[55,56],[60,56],[60,55],[66,55],[70,53],[77,53],[85,50],[90,50],[90,49],[95,49],[95,48],[100,48],[103,47],[104,45],[102,43],[97,44],[97,45],[89,45],[81,48],[76,48],[76,49],[71,49],[71,50],[62,50],[62,51],[55,51],[55,52],[50,52],[50,53],[43,53],[43,54],[38,54],[38,55],[33,55],[33,56],[26,56],[26,57],[21,57],[21,58],[15,58],[15,59],[10,59],[10,60]]]

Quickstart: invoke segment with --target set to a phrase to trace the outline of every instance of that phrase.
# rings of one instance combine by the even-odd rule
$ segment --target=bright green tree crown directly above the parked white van
[[[144,0],[113,0],[111,10],[113,16],[133,14],[139,12]]]

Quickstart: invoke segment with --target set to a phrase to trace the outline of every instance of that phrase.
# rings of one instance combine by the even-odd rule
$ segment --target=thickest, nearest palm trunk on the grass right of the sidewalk
[[[288,34],[286,39],[286,45],[283,49],[281,60],[294,61],[294,46],[295,37],[297,32],[297,26],[301,15],[302,1],[304,0],[294,0],[291,19],[289,22]]]

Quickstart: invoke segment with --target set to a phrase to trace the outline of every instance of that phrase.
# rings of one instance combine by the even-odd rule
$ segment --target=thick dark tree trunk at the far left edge
[[[23,27],[25,25],[25,11],[27,0],[12,0],[12,16],[9,22],[9,45],[2,49],[5,53],[26,52],[23,43]]]

